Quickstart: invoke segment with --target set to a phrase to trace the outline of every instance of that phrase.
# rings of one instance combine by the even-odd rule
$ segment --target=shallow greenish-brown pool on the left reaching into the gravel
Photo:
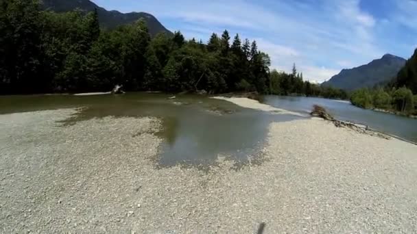
[[[163,120],[164,139],[159,164],[171,166],[211,164],[218,154],[232,155],[236,161],[257,159],[258,149],[271,121],[296,117],[274,115],[238,107],[226,101],[183,95],[168,100],[167,94],[129,93],[119,96],[0,96],[0,114],[65,107],[86,107],[65,121],[104,116],[155,116]]]

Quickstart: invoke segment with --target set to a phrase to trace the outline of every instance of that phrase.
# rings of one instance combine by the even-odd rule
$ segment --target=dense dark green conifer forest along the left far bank
[[[208,42],[150,36],[143,21],[101,29],[97,10],[56,13],[38,1],[1,1],[0,94],[126,91],[324,96],[346,92],[303,81],[302,73],[270,71],[256,41],[212,34]]]

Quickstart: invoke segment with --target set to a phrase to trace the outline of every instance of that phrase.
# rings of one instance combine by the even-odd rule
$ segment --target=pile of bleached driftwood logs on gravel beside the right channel
[[[329,120],[333,122],[333,124],[336,127],[344,127],[344,128],[352,129],[353,131],[356,131],[358,133],[374,135],[379,138],[384,138],[387,140],[391,139],[389,135],[385,133],[381,133],[374,129],[370,129],[370,127],[366,125],[358,125],[353,122],[337,120],[331,114],[329,114],[329,112],[327,112],[327,110],[324,107],[321,107],[320,105],[313,105],[313,111],[310,114],[311,116],[320,117],[320,118],[323,118],[324,120]]]

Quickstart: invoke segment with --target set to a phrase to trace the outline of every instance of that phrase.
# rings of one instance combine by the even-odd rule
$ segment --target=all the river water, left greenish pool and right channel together
[[[259,149],[263,146],[270,122],[300,118],[245,109],[204,96],[180,95],[172,100],[167,97],[168,94],[147,93],[0,96],[0,114],[84,107],[79,114],[65,120],[65,125],[104,116],[154,116],[163,120],[163,130],[158,133],[164,139],[158,159],[160,166],[184,162],[212,164],[219,154],[243,162],[248,161],[248,157],[261,159]],[[328,99],[265,96],[263,102],[302,113],[309,112],[314,104],[322,105],[336,118],[364,123],[417,142],[415,119],[372,112]]]

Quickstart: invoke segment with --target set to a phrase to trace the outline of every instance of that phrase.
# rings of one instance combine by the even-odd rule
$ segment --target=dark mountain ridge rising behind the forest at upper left
[[[46,10],[52,10],[54,12],[69,12],[75,9],[80,9],[84,12],[93,12],[97,9],[100,24],[102,27],[109,29],[119,25],[127,25],[143,18],[152,36],[160,32],[172,35],[172,32],[166,29],[152,14],[145,12],[123,14],[116,10],[108,11],[89,0],[43,0],[43,7]]]

